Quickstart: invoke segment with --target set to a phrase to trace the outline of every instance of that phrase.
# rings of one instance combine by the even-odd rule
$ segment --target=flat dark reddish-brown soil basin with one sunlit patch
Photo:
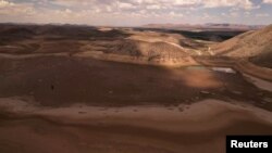
[[[271,95],[246,81],[239,74],[92,59],[1,59],[0,72],[0,97],[28,97],[49,106],[78,102],[89,105],[171,105],[206,98],[260,104],[263,97]]]

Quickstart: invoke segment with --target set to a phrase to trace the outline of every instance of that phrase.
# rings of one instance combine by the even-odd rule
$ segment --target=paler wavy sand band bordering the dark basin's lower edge
[[[72,123],[129,125],[168,131],[199,131],[249,120],[272,125],[272,113],[242,102],[203,100],[191,105],[173,107],[148,105],[99,107],[75,104],[69,107],[44,107],[16,99],[0,99],[0,109],[16,114],[66,118]],[[181,109],[183,111],[181,111]],[[199,126],[201,125],[201,126]]]

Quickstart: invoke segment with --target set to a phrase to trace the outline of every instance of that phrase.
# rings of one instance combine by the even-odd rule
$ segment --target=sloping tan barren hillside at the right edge
[[[249,58],[256,64],[272,67],[272,25],[256,31],[247,31],[230,40],[214,44],[218,55]]]

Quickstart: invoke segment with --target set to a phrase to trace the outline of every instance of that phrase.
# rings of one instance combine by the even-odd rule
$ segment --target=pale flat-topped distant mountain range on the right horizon
[[[166,28],[166,29],[207,29],[207,30],[252,30],[264,27],[263,25],[243,25],[243,24],[217,24],[217,23],[207,23],[207,24],[148,24],[144,25],[146,28]]]

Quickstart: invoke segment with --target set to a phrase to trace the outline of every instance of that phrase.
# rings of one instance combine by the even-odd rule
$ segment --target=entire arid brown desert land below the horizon
[[[0,25],[1,153],[223,153],[271,112],[271,26]]]

